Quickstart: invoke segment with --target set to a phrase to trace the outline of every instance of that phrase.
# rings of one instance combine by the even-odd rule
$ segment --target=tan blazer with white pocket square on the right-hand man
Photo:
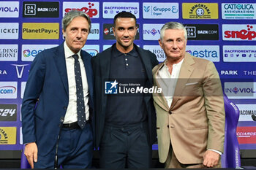
[[[163,63],[153,69],[156,75]],[[170,142],[181,163],[203,163],[207,149],[223,152],[225,109],[214,63],[186,53],[170,108],[163,94],[154,94],[159,161],[164,163]]]

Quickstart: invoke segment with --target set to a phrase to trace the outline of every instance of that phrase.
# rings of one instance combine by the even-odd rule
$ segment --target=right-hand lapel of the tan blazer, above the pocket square
[[[195,63],[192,56],[189,55],[189,53],[185,53],[184,61],[181,65],[181,71],[178,75],[178,80],[175,88],[175,92],[173,94],[173,102],[170,106],[170,109],[173,109],[176,102],[181,98],[181,93],[184,90],[187,81],[189,80],[189,77],[191,76],[194,66],[192,66]]]

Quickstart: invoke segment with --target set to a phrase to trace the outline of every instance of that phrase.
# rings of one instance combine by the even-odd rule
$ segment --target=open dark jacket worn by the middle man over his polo
[[[116,44],[114,44],[116,45]],[[110,78],[110,61],[112,56],[112,47],[104,50],[102,53],[98,53],[94,58],[92,58],[92,67],[94,71],[94,84],[95,84],[95,95],[94,95],[94,104],[95,104],[95,120],[96,120],[96,147],[99,147],[100,140],[104,131],[105,125],[105,113],[107,105],[107,96],[105,95],[105,80]],[[138,51],[140,58],[145,66],[146,74],[148,80],[146,81],[147,87],[152,87],[152,69],[159,62],[157,61],[156,55],[151,53],[148,50],[143,50],[142,48],[135,45],[136,50]],[[154,109],[152,96],[145,96],[144,101],[147,109],[148,117],[148,138],[151,144],[157,139],[157,130],[156,130],[156,112]]]

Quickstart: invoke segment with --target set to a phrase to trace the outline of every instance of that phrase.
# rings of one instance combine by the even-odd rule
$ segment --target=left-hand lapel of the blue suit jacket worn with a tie
[[[61,76],[61,81],[64,85],[67,96],[69,96],[68,81],[67,81],[67,67],[66,67],[65,53],[64,53],[64,43],[62,43],[61,45],[59,45],[59,47],[57,47],[57,50],[55,52],[53,59],[56,63],[56,67]]]

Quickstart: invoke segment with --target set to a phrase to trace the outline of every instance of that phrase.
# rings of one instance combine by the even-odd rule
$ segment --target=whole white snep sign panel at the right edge
[[[222,35],[227,41],[255,41],[256,24],[223,24]]]

